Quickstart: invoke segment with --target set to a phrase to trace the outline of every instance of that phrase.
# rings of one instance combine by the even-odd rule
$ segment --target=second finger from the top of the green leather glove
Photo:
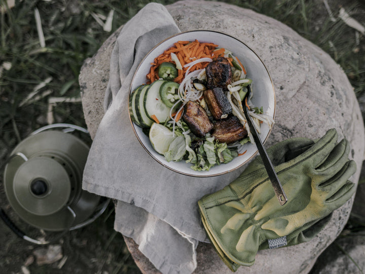
[[[349,153],[350,144],[346,139],[342,139],[330,152],[327,158],[316,167],[316,172],[320,173],[322,176],[336,174],[348,161]]]

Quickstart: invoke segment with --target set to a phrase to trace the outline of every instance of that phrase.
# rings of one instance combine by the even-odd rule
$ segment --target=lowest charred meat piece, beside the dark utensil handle
[[[247,131],[236,116],[214,123],[212,136],[221,143],[234,143],[247,136]]]

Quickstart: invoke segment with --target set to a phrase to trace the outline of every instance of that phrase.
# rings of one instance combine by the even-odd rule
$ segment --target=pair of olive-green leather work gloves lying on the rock
[[[229,186],[199,200],[205,230],[231,270],[252,265],[257,251],[268,248],[268,239],[286,236],[287,246],[300,244],[324,227],[356,190],[348,181],[356,170],[349,151],[347,140],[337,144],[335,129],[317,142],[294,138],[269,148],[288,198],[283,206],[261,157]]]

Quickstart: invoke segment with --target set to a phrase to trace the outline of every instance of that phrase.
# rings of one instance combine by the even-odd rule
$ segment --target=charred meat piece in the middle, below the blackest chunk
[[[204,91],[204,99],[215,119],[227,118],[232,113],[232,106],[222,88],[213,88]]]

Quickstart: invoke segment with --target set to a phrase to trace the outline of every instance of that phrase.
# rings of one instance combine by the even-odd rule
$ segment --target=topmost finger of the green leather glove
[[[318,140],[318,142],[314,143],[314,145],[304,152],[301,155],[301,159],[304,161],[306,159],[310,159],[313,162],[313,167],[317,167],[322,162],[325,161],[330,152],[334,149],[337,143],[337,131],[332,128],[328,130],[322,138]],[[296,161],[295,158],[291,161]],[[288,164],[291,164],[289,161]],[[295,163],[293,163],[295,164]]]

